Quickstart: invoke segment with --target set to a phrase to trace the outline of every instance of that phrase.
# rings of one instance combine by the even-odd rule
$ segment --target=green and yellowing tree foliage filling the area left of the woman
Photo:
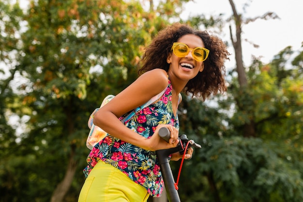
[[[150,12],[140,1],[38,0],[30,1],[24,15],[20,9],[15,12],[18,4],[1,3],[1,15],[13,16],[3,25],[4,51],[11,51],[14,39],[6,37],[12,36],[9,26],[19,26],[11,22],[23,22],[14,68],[27,79],[18,94],[5,89],[4,80],[1,91],[11,92],[6,103],[16,97],[11,102],[17,103],[16,115],[29,117],[18,142],[12,136],[14,147],[3,151],[0,176],[8,182],[1,184],[1,193],[8,193],[4,201],[76,201],[89,153],[85,140],[91,111],[106,94],[118,93],[136,78],[143,47],[185,1],[160,1]],[[6,84],[14,78],[11,74]],[[1,108],[3,114],[12,107]],[[9,142],[4,135],[1,140]]]

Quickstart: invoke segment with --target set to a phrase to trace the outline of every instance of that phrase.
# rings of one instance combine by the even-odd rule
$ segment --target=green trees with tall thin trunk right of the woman
[[[291,67],[286,65],[293,52],[287,47],[267,65],[255,60],[244,68],[241,26],[277,16],[268,12],[244,22],[230,3],[236,35],[230,34],[238,60],[229,74],[228,96],[213,99],[218,107],[185,100],[189,104],[181,110],[186,111],[181,126],[202,143],[182,170],[182,201],[302,201],[302,52]]]

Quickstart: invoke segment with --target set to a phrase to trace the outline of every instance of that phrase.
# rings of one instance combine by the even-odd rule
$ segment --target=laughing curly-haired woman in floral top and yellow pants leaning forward
[[[146,48],[140,77],[94,115],[93,124],[108,135],[87,158],[87,176],[78,202],[146,202],[159,197],[163,179],[154,151],[176,147],[181,92],[202,97],[225,92],[225,44],[206,31],[173,24],[160,31]],[[137,112],[125,124],[131,110],[164,92],[153,104]],[[158,135],[170,131],[166,142]],[[190,148],[185,158],[191,158]],[[171,160],[182,157],[173,154]]]

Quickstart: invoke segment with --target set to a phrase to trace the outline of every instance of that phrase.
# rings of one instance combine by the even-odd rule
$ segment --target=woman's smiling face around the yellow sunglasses
[[[204,43],[200,37],[194,34],[183,35],[177,42],[186,44],[192,49],[184,57],[178,57],[171,52],[167,57],[167,63],[169,63],[168,72],[179,79],[188,81],[196,77],[198,72],[202,72],[204,69],[203,62],[196,61],[192,55],[193,49],[204,47]]]

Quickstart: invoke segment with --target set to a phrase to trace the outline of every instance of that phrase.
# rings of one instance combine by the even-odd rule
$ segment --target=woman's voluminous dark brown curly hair
[[[171,47],[174,42],[186,34],[200,37],[210,53],[204,61],[204,70],[189,80],[183,91],[186,94],[192,93],[192,96],[202,97],[203,100],[209,98],[211,94],[224,93],[227,90],[224,62],[229,59],[230,55],[226,45],[217,36],[211,35],[207,31],[195,30],[186,24],[175,23],[159,31],[139,62],[138,74],[142,75],[155,68],[168,71],[167,56],[171,54]]]

